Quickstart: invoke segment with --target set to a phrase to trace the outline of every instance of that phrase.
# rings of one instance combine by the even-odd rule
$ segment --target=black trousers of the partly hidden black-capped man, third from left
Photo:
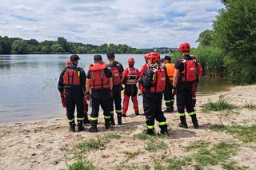
[[[113,86],[113,97],[110,99],[110,113],[114,114],[114,106],[115,113],[122,114],[122,98],[121,98],[121,85]]]

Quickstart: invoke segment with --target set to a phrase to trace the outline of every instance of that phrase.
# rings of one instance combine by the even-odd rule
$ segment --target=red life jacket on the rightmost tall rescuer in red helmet
[[[182,71],[182,81],[183,82],[192,82],[197,80],[197,67],[198,63],[194,59],[185,60],[181,58],[181,61],[184,64],[184,70]]]

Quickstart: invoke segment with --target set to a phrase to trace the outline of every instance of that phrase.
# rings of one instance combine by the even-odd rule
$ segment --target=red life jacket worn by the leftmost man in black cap
[[[71,69],[69,66],[67,67],[63,75],[63,84],[66,86],[80,85],[80,71],[78,68]]]

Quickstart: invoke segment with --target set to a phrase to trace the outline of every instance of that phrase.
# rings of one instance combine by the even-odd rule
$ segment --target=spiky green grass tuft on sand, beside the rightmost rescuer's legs
[[[220,96],[216,102],[210,99],[208,99],[208,101],[208,103],[202,106],[203,110],[206,112],[238,109],[238,106],[231,104],[229,99],[223,96]]]

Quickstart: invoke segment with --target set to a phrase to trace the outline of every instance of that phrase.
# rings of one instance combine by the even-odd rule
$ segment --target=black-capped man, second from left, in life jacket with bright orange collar
[[[112,74],[102,61],[101,55],[94,56],[94,65],[90,65],[86,79],[86,100],[91,98],[92,112],[90,114],[89,132],[98,132],[99,106],[103,109],[105,128],[110,128],[110,98],[112,97]],[[91,94],[90,94],[91,90]]]

